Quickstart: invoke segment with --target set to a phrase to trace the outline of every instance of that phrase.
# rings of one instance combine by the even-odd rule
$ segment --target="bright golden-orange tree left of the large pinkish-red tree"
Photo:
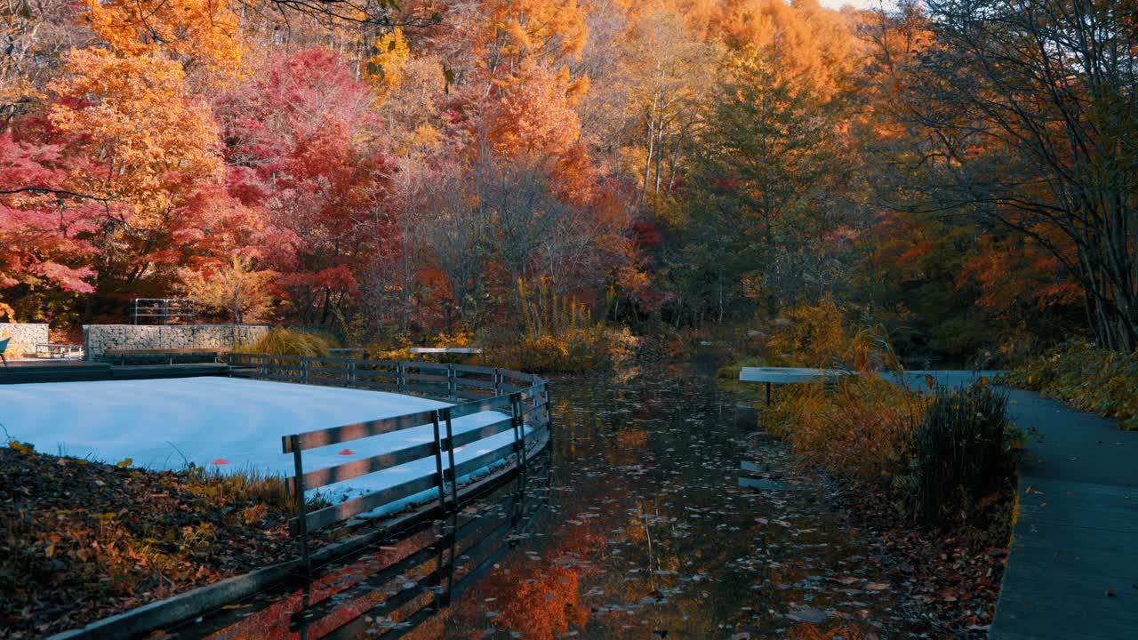
[[[65,184],[108,203],[92,237],[102,300],[168,290],[193,252],[211,251],[203,235],[229,211],[204,202],[224,175],[221,140],[184,79],[180,64],[157,54],[89,48],[73,51],[50,85],[51,131],[80,158]]]

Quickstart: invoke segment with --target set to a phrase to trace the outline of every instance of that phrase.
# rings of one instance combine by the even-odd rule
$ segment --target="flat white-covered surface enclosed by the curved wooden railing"
[[[8,437],[43,453],[104,462],[130,458],[132,466],[150,469],[193,463],[223,473],[256,469],[281,476],[292,473],[292,456],[281,453],[282,435],[442,407],[447,403],[394,393],[221,377],[0,386],[0,425]],[[465,416],[454,420],[454,433],[504,417],[495,411]],[[512,438],[506,430],[456,449],[455,462]],[[422,425],[305,451],[304,467],[333,467],[432,440],[431,425]],[[429,458],[322,491],[355,495],[432,473],[435,461]]]

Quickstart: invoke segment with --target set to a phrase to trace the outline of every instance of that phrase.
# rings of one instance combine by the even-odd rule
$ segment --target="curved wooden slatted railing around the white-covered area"
[[[352,358],[231,353],[228,355],[228,360],[230,375],[233,376],[300,384],[381,388],[396,393],[437,393],[445,394],[445,397],[440,395],[428,397],[446,401],[460,397],[472,399],[440,409],[415,411],[281,437],[282,452],[291,453],[294,457],[294,475],[288,478],[288,490],[294,498],[296,515],[289,520],[289,526],[292,534],[299,539],[300,553],[306,567],[310,563],[310,532],[341,523],[365,511],[376,510],[430,489],[438,491],[439,508],[444,511],[448,507],[454,508],[459,503],[460,477],[512,456],[517,457],[517,465],[525,469],[526,449],[534,440],[531,436],[552,432],[549,386],[545,380],[533,374],[470,364],[355,360]],[[394,371],[379,371],[369,367],[386,367],[394,369]],[[423,374],[421,372],[423,370],[443,371],[445,375]],[[526,386],[510,383],[522,383]],[[498,411],[505,413],[506,417],[457,435],[454,434],[454,420],[484,411]],[[312,471],[304,470],[303,452],[310,449],[426,425],[431,425],[434,434],[431,441],[335,467]],[[527,426],[530,433],[526,433]],[[457,448],[504,433],[508,429],[513,430],[511,443],[455,463],[454,452]],[[319,489],[428,458],[435,459],[435,473],[432,474],[315,511],[308,512],[305,508],[304,495],[310,489]]]

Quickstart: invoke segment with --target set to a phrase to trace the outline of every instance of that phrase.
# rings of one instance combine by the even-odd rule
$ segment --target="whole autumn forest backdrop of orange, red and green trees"
[[[830,297],[916,361],[1138,346],[1125,2],[329,7],[0,8],[3,319],[191,295],[580,370]]]

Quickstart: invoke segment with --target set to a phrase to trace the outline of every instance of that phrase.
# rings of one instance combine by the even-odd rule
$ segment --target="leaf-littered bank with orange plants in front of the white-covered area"
[[[43,638],[289,560],[290,512],[275,476],[151,471],[11,442],[0,448],[0,637]]]

